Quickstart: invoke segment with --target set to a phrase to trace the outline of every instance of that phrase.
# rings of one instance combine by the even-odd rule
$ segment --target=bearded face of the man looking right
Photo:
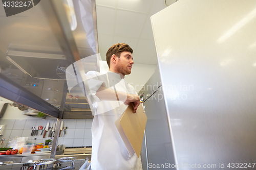
[[[131,52],[122,52],[117,59],[116,71],[124,75],[130,75],[133,62],[133,56]]]

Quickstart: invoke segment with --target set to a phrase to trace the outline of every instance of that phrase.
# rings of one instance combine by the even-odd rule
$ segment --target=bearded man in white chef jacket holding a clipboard
[[[141,159],[130,155],[115,126],[116,119],[130,103],[134,112],[140,103],[133,86],[123,79],[134,64],[132,48],[125,43],[112,45],[106,53],[109,71],[89,71],[85,85],[93,106],[92,170],[142,169]]]

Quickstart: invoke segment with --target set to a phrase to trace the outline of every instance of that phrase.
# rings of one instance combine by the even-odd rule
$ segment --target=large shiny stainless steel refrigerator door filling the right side
[[[145,102],[148,165],[255,169],[256,1],[180,0],[151,21],[163,102]]]

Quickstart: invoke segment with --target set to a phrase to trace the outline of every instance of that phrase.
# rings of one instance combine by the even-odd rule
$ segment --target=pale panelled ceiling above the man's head
[[[102,60],[111,45],[124,42],[133,48],[135,63],[157,65],[150,17],[165,7],[164,0],[96,0]]]

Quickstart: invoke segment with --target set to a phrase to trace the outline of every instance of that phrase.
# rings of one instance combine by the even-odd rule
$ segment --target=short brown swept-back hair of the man
[[[109,48],[108,52],[106,52],[106,63],[108,63],[109,68],[110,68],[110,60],[112,55],[114,54],[119,58],[122,52],[133,53],[133,49],[128,44],[125,44],[125,43],[117,43],[112,45]]]

